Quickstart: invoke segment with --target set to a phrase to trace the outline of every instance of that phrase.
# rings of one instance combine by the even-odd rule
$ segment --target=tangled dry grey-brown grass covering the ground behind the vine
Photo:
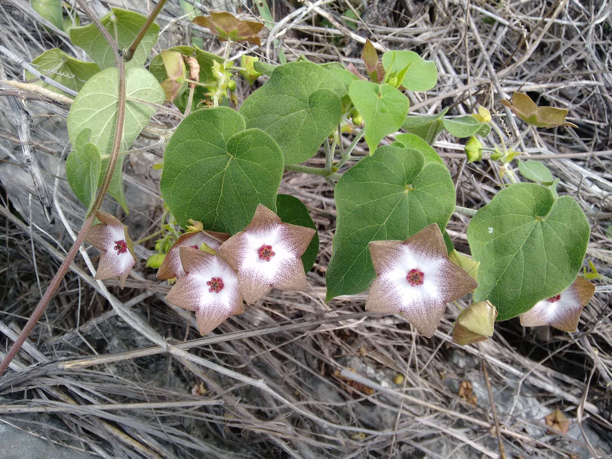
[[[136,10],[148,5],[127,3]],[[94,4],[102,13],[102,5]],[[510,140],[524,126],[497,101],[512,91],[569,108],[568,119],[578,129],[532,130],[525,151],[545,161],[561,179],[559,193],[583,207],[592,225],[591,252],[612,255],[607,1],[380,0],[368,4],[362,13],[367,26],[357,31],[341,22],[348,5],[276,3],[274,35],[253,53],[274,62],[272,39],[278,38],[289,61],[304,54],[317,62],[358,65],[365,36],[386,49],[417,51],[436,62],[439,83],[427,94],[408,94],[412,112],[450,106],[449,114],[461,115],[485,105]],[[252,13],[244,5],[240,10]],[[333,28],[322,26],[321,18]],[[188,39],[189,24],[177,2],[169,2],[158,23],[156,52]],[[194,29],[205,47],[218,50],[206,29]],[[65,36],[43,28],[24,0],[0,1],[0,45],[25,62],[52,47],[72,49]],[[0,54],[9,78],[22,79],[20,63]],[[239,86],[243,100],[251,89],[244,81]],[[0,95],[7,95],[6,86]],[[0,97],[5,112],[6,100]],[[0,353],[53,277],[72,242],[69,228],[78,229],[82,212],[66,191],[62,168],[48,166],[67,154],[65,110],[36,100],[26,107],[35,113],[32,139],[53,190],[56,224],[36,223],[40,206],[35,195],[28,200],[31,185],[2,189],[0,332],[7,339],[0,341]],[[12,118],[0,119],[6,122],[0,125],[0,182],[6,188],[8,174],[21,171],[21,150]],[[154,121],[177,124],[166,114]],[[463,147],[447,135],[435,147],[457,184],[458,204],[482,206],[499,189],[494,163],[466,165]],[[161,154],[139,155],[127,166],[128,191],[148,200],[125,218],[136,238],[149,234],[161,214],[157,173],[148,168]],[[323,161],[319,155],[308,163]],[[307,292],[274,291],[203,338],[189,313],[165,303],[168,287],[144,268],[147,248],[139,249],[140,263],[122,291],[116,283],[95,282],[78,256],[13,371],[0,378],[0,400],[7,403],[0,406],[0,421],[92,457],[499,457],[480,366],[485,362],[507,457],[605,457],[606,447],[610,454],[609,286],[599,283],[575,334],[523,329],[512,320],[499,323],[493,339],[457,348],[449,334],[458,309],[449,305],[427,340],[401,319],[364,313],[365,293],[324,302],[335,224],[332,188],[321,177],[288,173],[280,192],[304,201],[318,225],[321,248]],[[20,195],[25,199],[17,214],[17,203],[8,200]],[[454,215],[449,224],[455,247],[466,253],[468,221]],[[83,254],[95,266],[95,250]],[[610,276],[605,263],[592,260]],[[397,375],[403,382],[394,382]],[[476,406],[457,395],[463,379],[474,386]],[[543,414],[555,408],[572,420],[567,435],[547,432],[543,424]]]

